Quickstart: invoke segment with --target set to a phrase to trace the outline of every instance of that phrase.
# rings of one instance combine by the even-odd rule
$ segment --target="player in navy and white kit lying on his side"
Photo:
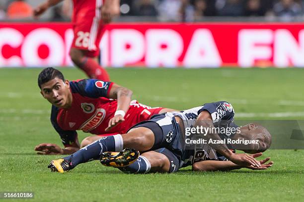
[[[206,141],[215,142],[208,141],[208,145],[203,143],[197,145],[199,148],[187,149],[186,131],[197,127],[210,128],[203,137]],[[221,130],[214,130],[217,128]],[[254,141],[257,144],[221,142],[225,139]],[[118,167],[128,173],[177,172],[179,168],[188,165],[193,165],[194,170],[206,171],[241,167],[267,169],[272,164],[264,164],[269,158],[262,161],[255,158],[267,150],[270,144],[271,136],[266,128],[258,124],[238,127],[234,123],[232,105],[227,101],[218,101],[184,111],[154,115],[150,120],[133,126],[127,134],[101,138],[70,156],[53,160],[49,168],[65,172],[79,163],[100,159],[102,164]],[[253,155],[235,153],[231,149]],[[139,155],[138,151],[143,154]]]

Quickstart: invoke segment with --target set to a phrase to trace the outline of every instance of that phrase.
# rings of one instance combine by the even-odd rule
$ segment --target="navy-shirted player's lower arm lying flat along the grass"
[[[261,156],[262,153],[256,153],[252,154],[251,156],[256,158]],[[232,161],[218,161],[218,160],[205,160],[205,161],[200,161],[196,162],[192,165],[193,171],[229,171],[229,170],[235,170],[235,169],[240,169],[240,168],[248,168],[252,170],[266,170],[267,168],[271,167],[273,162],[269,161],[269,157],[260,160],[259,162],[261,163],[260,167],[255,167],[255,166],[240,166]]]

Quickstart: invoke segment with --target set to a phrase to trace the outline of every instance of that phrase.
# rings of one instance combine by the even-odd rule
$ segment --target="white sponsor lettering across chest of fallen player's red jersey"
[[[84,122],[79,130],[82,130],[85,133],[90,132],[91,130],[95,129],[97,126],[101,124],[105,117],[106,111],[102,108],[96,109],[96,112],[93,116],[91,116],[86,122]]]

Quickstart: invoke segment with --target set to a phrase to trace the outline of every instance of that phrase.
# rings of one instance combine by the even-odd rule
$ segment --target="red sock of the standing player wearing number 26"
[[[110,81],[110,77],[109,77],[107,71],[104,68],[102,68],[102,66],[100,66],[98,64],[98,62],[96,62],[96,60],[94,60],[93,58],[84,57],[82,59],[80,68],[91,79]]]

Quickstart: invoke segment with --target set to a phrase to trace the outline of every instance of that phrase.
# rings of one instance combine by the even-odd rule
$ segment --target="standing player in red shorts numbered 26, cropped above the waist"
[[[45,1],[34,9],[34,16],[38,17],[61,1],[63,0]],[[120,0],[73,0],[74,39],[70,56],[89,78],[110,81],[108,73],[98,62],[99,43],[104,25],[111,21],[113,15],[119,14],[119,2]]]

